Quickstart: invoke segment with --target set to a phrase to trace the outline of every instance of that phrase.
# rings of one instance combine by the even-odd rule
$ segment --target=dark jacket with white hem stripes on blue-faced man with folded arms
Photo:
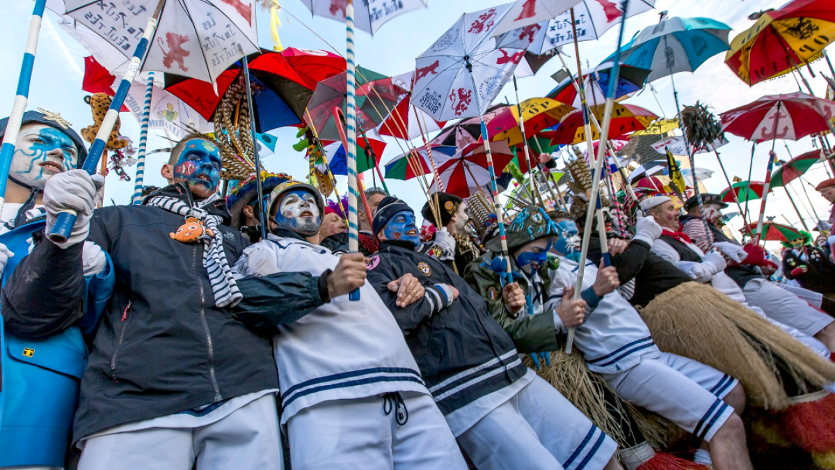
[[[519,360],[513,340],[488,313],[484,299],[437,258],[395,243],[380,243],[380,251],[369,264],[374,267],[368,271],[368,282],[392,310],[443,414],[521,378],[527,368]],[[395,304],[397,293],[388,290],[387,284],[406,273],[420,279],[427,294],[400,308]],[[438,295],[443,299],[433,287],[436,284],[458,289],[458,299],[449,306],[438,306],[430,300]],[[460,376],[450,380],[453,375]],[[483,380],[475,380],[479,377]],[[471,381],[475,383],[463,386]],[[447,394],[458,386],[463,388]]]

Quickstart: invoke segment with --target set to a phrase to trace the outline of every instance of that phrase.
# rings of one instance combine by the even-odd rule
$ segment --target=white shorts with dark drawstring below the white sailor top
[[[400,392],[408,419],[383,411],[382,396],[323,401],[287,421],[293,470],[467,470],[432,396]]]

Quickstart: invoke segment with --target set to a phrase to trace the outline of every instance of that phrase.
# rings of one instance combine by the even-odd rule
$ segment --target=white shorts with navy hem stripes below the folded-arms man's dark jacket
[[[458,436],[478,470],[600,470],[617,450],[539,375]]]

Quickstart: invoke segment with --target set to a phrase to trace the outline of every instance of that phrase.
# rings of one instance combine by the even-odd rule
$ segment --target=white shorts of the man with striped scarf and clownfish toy
[[[89,437],[78,470],[281,470],[276,397],[262,396],[204,427],[150,427]]]

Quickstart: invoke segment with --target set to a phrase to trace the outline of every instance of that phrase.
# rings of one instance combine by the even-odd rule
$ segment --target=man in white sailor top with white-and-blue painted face
[[[313,186],[277,186],[268,202],[270,234],[235,265],[239,278],[264,286],[256,305],[247,307],[260,316],[257,326],[277,332],[281,424],[290,436],[292,467],[463,470],[397,323],[366,282],[366,259],[362,253],[337,257],[319,246],[324,207]],[[297,271],[316,279],[317,294],[306,303],[289,302],[303,295],[273,284],[277,274]],[[423,297],[412,276],[392,284],[403,304]],[[354,289],[357,301],[348,298]],[[256,297],[244,294],[244,303]]]

